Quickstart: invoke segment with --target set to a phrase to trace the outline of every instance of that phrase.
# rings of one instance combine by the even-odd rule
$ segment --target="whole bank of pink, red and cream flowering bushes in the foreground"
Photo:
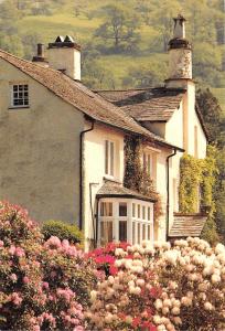
[[[225,329],[225,247],[199,238],[84,254],[0,203],[0,330]]]

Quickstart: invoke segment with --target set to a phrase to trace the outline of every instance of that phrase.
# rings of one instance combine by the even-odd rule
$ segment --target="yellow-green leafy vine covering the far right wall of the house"
[[[210,243],[218,239],[214,215],[214,184],[218,170],[216,164],[216,149],[207,147],[205,159],[196,159],[189,154],[181,158],[179,204],[182,213],[207,211],[208,216],[203,228],[202,237]]]

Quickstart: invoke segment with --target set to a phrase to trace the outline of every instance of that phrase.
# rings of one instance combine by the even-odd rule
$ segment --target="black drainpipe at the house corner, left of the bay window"
[[[84,203],[83,203],[83,195],[84,195],[84,188],[83,188],[83,182],[84,182],[84,160],[83,160],[83,153],[84,153],[84,136],[85,134],[94,130],[94,125],[95,121],[92,121],[92,127],[87,130],[84,130],[79,134],[79,229],[83,228],[83,209],[84,209]]]

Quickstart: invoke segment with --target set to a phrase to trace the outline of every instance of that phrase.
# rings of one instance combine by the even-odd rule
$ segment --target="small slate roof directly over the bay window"
[[[98,197],[128,197],[128,199],[138,199],[138,200],[144,200],[144,201],[151,201],[156,202],[156,195],[147,196],[143,194],[140,194],[137,191],[129,190],[125,188],[121,183],[105,180],[105,183],[97,192]]]

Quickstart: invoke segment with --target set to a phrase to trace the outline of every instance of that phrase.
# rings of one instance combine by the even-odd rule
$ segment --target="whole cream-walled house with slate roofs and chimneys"
[[[33,62],[0,51],[0,199],[40,221],[76,222],[86,247],[110,241],[200,235],[205,217],[180,215],[180,158],[204,158],[192,50],[174,19],[164,87],[92,92],[81,83],[81,47],[69,36],[39,45]],[[125,185],[126,137],[142,139],[141,163],[162,201]],[[182,224],[189,222],[186,232]],[[197,229],[196,225],[197,224]]]

